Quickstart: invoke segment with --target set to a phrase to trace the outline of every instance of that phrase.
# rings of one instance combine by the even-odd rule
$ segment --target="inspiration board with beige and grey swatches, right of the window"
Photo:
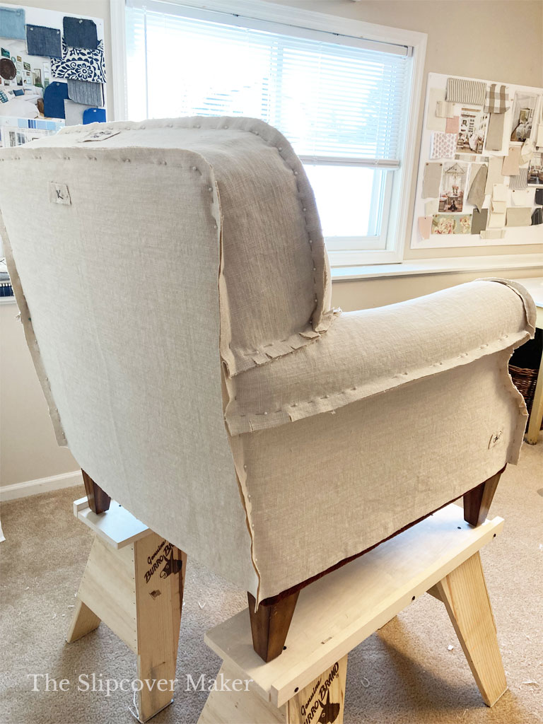
[[[543,88],[429,73],[411,248],[543,243]]]

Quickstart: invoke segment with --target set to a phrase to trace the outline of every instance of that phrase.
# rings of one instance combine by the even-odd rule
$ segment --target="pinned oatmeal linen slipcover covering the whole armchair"
[[[0,175],[59,443],[258,600],[516,461],[527,292],[481,280],[338,316],[306,174],[263,122],[69,127],[2,150]]]

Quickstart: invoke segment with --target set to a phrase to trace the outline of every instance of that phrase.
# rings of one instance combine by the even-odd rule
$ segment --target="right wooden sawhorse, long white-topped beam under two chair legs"
[[[198,724],[342,724],[348,653],[425,592],[445,604],[492,707],[508,686],[479,550],[502,527],[494,518],[473,528],[447,505],[320,578],[300,592],[285,650],[269,663],[253,651],[247,610],[211,629],[223,676]]]

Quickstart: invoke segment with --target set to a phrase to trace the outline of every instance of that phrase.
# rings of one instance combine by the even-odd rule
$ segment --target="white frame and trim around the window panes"
[[[190,9],[191,17],[198,17],[198,10],[217,12],[230,15],[228,22],[242,25],[243,20],[236,20],[239,15],[242,19],[259,21],[263,27],[270,28],[269,24],[279,23],[283,26],[292,26],[292,34],[303,34],[304,30],[324,31],[337,33],[337,35],[357,38],[357,44],[363,41],[377,41],[397,46],[408,46],[412,49],[412,75],[411,96],[406,114],[405,146],[401,161],[400,183],[392,189],[392,173],[387,174],[387,185],[384,198],[384,216],[379,240],[384,242],[383,249],[369,248],[376,243],[375,237],[342,237],[341,240],[329,240],[329,258],[332,267],[353,266],[366,264],[394,264],[403,261],[403,251],[408,248],[410,230],[408,221],[410,216],[411,183],[415,169],[415,151],[417,146],[418,115],[421,108],[421,98],[424,80],[424,61],[426,58],[426,33],[414,30],[401,30],[389,28],[386,25],[352,20],[335,15],[301,10],[285,5],[275,5],[261,0],[169,0],[165,2],[165,9],[172,6],[181,6]],[[125,0],[111,0],[111,38],[113,62],[113,91],[114,91],[114,119],[127,119],[127,59],[126,59],[126,32],[125,32]],[[203,17],[203,16],[202,16]],[[209,16],[207,16],[209,17]],[[218,16],[220,18],[221,16]],[[301,33],[298,33],[298,30]],[[283,30],[284,31],[284,30]],[[354,43],[353,43],[354,44]],[[323,163],[325,159],[302,157],[302,161],[311,164]],[[386,161],[379,163],[364,159],[326,159],[327,163],[337,161],[337,165],[349,164],[371,167],[385,167]],[[397,164],[393,164],[391,169]],[[388,212],[388,213],[387,213]],[[343,247],[343,248],[340,248]]]

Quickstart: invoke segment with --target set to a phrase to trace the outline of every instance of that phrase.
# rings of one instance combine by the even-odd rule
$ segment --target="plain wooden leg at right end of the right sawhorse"
[[[445,604],[483,701],[492,707],[508,684],[479,552],[442,578],[432,592]]]

